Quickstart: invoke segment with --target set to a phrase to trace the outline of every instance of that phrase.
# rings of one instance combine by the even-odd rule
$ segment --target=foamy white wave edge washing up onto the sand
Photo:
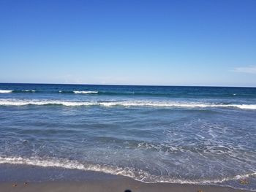
[[[240,180],[246,177],[252,177],[256,175],[256,172],[250,172],[248,174],[237,174],[231,177],[222,177],[217,179],[195,179],[186,180],[181,178],[173,178],[166,175],[152,175],[142,169],[135,169],[130,167],[118,167],[107,166],[99,164],[82,164],[78,161],[67,160],[64,158],[22,158],[22,157],[0,157],[0,164],[20,164],[42,167],[59,167],[64,169],[79,169],[84,171],[104,172],[107,174],[123,175],[126,177],[132,177],[135,180],[139,180],[144,183],[181,183],[181,184],[212,184],[212,183],[224,183],[230,180]]]

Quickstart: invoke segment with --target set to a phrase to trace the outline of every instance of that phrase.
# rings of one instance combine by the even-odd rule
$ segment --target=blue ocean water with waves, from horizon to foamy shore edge
[[[256,88],[2,83],[0,164],[256,190]]]

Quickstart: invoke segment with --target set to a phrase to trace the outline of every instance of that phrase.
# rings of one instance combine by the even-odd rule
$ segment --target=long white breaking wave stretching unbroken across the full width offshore
[[[61,101],[61,100],[15,100],[0,99],[0,105],[23,106],[23,105],[63,105],[63,106],[104,106],[104,107],[179,107],[179,108],[207,108],[207,107],[230,107],[242,110],[256,110],[256,104],[212,104],[212,103],[181,103],[172,101]]]

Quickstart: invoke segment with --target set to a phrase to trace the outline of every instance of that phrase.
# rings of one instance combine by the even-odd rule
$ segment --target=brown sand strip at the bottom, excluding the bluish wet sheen
[[[238,192],[238,190],[228,187],[219,187],[214,185],[187,185],[170,183],[141,183],[129,178],[120,177],[115,180],[92,180],[79,182],[43,182],[43,183],[0,183],[1,192],[123,192],[130,190],[132,192]]]

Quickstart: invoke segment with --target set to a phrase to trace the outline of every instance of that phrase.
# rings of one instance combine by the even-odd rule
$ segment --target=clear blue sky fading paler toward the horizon
[[[0,82],[256,87],[256,1],[0,0]]]

